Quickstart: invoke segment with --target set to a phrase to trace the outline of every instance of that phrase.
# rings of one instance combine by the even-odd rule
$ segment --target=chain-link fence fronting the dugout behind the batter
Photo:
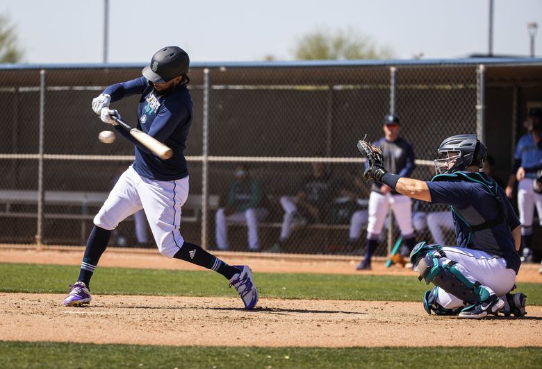
[[[108,127],[90,102],[106,86],[140,76],[141,67],[0,70],[0,242],[85,243],[92,217],[133,160],[127,140],[98,141]],[[356,142],[382,137],[384,115],[396,113],[400,135],[416,154],[412,176],[429,180],[442,139],[484,135],[480,73],[475,64],[428,63],[192,67],[183,237],[211,250],[361,255],[370,187],[361,180]],[[133,126],[138,98],[112,105]],[[261,184],[254,206],[266,211],[251,213],[257,239],[247,215],[230,206],[239,166]],[[244,183],[240,188],[249,187]],[[443,209],[415,202],[413,210],[416,237],[433,241],[425,215]],[[226,232],[215,223],[224,215]],[[133,217],[122,222],[111,244],[152,246],[151,235],[139,237],[136,225]],[[438,227],[453,243],[454,231]],[[399,235],[393,219],[386,223],[376,255],[385,255]]]

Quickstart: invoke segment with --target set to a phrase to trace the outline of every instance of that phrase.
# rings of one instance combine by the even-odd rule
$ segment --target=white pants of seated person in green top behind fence
[[[263,221],[269,212],[263,207],[249,208],[244,212],[235,212],[230,215],[224,214],[224,208],[217,210],[216,220],[216,242],[219,250],[229,250],[228,243],[228,222],[245,222],[248,228],[248,241],[250,250],[259,250],[260,240],[258,239],[258,222]]]

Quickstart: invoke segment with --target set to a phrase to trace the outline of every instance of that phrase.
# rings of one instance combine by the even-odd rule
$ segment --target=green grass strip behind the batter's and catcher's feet
[[[0,292],[66,293],[78,266],[0,264]],[[254,273],[262,298],[419,301],[432,287],[414,275],[331,275]],[[529,304],[542,304],[542,284],[520,283]],[[122,295],[236,296],[227,280],[212,271],[97,268],[92,293]],[[527,309],[528,311],[528,309]]]

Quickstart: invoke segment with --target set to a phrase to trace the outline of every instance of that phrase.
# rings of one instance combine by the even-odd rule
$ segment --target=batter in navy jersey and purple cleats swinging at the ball
[[[161,160],[145,146],[117,129],[136,145],[136,160],[120,176],[106,202],[94,218],[88,237],[77,282],[70,286],[64,300],[66,306],[79,306],[91,300],[89,283],[101,254],[106,250],[111,231],[127,216],[145,209],[147,219],[162,255],[188,261],[224,275],[243,299],[245,308],[252,309],[258,291],[248,266],[229,266],[201,247],[188,243],[179,232],[181,207],[188,197],[188,168],[184,149],[192,123],[192,98],[188,91],[188,54],[177,46],[157,51],[150,65],[142,70],[143,77],[107,87],[92,100],[92,110],[105,123],[113,124],[111,116],[119,116],[108,108],[110,102],[141,94],[138,105],[138,128],[170,146],[173,156]]]

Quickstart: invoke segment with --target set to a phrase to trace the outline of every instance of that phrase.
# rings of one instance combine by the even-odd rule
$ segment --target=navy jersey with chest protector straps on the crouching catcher
[[[463,175],[474,179],[467,180]],[[520,221],[506,194],[495,181],[481,172],[461,172],[437,175],[433,182],[426,183],[432,204],[452,207],[459,247],[482,250],[503,257],[507,261],[507,267],[518,273],[521,261],[511,230],[517,228]],[[494,221],[502,213],[505,223],[476,232],[468,230],[470,226]]]

